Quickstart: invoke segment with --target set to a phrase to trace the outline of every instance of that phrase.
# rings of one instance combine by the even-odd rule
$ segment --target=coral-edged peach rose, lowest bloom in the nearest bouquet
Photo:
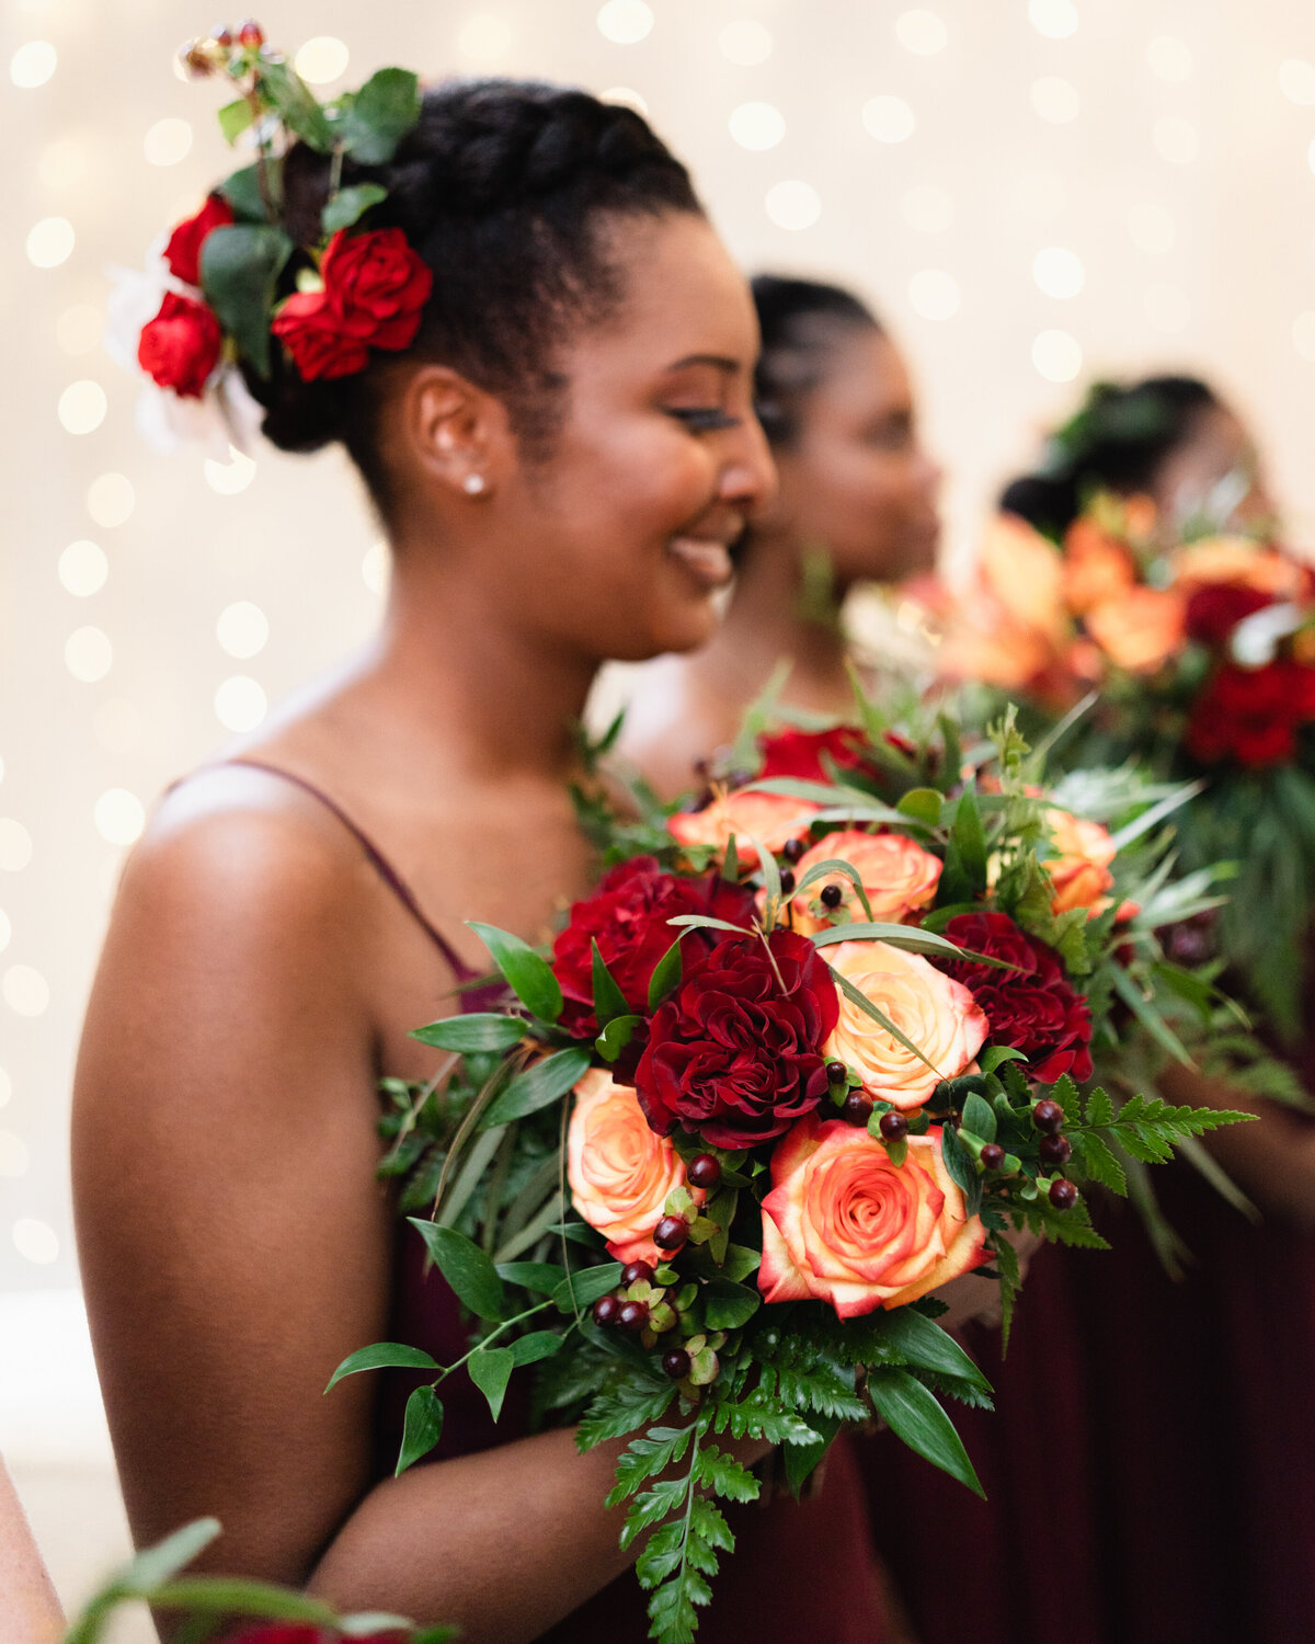
[[[902,1307],[988,1259],[940,1154],[940,1126],[909,1138],[904,1164],[845,1120],[782,1136],[763,1200],[758,1287],[769,1302],[830,1302],[842,1318]]]

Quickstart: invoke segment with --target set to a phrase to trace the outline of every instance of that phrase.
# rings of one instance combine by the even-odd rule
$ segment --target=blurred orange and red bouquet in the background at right
[[[1236,861],[1239,883],[1218,932],[1184,939],[1210,935],[1294,1036],[1315,899],[1312,569],[1205,524],[1165,543],[1147,498],[1096,496],[1059,547],[998,521],[978,593],[947,615],[947,677],[998,686],[1042,720],[1098,690],[1067,763],[1136,758],[1157,778],[1208,783],[1179,845],[1188,865]]]

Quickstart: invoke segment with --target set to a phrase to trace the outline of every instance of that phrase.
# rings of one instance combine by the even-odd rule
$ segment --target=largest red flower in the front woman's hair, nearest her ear
[[[271,326],[307,383],[363,370],[370,349],[409,347],[434,275],[401,229],[335,233],[319,271],[324,289],[291,296]]]

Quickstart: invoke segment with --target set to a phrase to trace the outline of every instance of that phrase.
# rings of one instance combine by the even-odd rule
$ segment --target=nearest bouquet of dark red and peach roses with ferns
[[[1167,876],[1182,792],[1110,834],[1040,786],[1008,717],[967,756],[948,722],[922,750],[870,725],[786,732],[697,810],[585,802],[597,891],[551,957],[475,926],[514,1000],[419,1029],[462,1059],[442,1093],[391,1087],[385,1171],[431,1207],[460,1363],[495,1417],[538,1365],[541,1422],[630,1435],[608,1503],[667,1644],[733,1547],[717,1498],[759,1493],[730,1442],[777,1447],[799,1493],[879,1419],[980,1489],[942,1399],[990,1388],[935,1292],[976,1272],[1008,1325],[1013,1231],[1101,1246],[1087,1184],[1124,1192],[1121,1161],[1241,1118],[1088,1085],[1124,1019],[1177,1046],[1185,972],[1154,932],[1207,899]],[[334,1381],[386,1365],[432,1373],[401,1471],[459,1366],[376,1343]]]

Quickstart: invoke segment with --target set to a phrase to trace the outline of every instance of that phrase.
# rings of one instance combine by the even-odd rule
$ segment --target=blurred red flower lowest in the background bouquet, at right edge
[[[1290,658],[1266,667],[1225,663],[1192,709],[1187,751],[1202,764],[1284,764],[1295,758],[1297,727],[1312,720],[1315,667]]]

